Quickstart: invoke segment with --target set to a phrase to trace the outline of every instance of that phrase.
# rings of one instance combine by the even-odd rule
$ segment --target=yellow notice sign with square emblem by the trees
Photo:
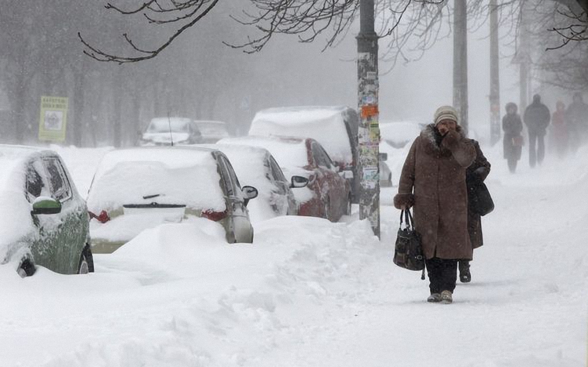
[[[41,97],[39,140],[64,142],[68,122],[67,97]]]

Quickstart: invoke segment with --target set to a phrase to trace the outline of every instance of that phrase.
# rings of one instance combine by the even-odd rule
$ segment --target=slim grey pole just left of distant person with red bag
[[[500,58],[498,52],[498,6],[490,0],[490,144],[500,140]]]

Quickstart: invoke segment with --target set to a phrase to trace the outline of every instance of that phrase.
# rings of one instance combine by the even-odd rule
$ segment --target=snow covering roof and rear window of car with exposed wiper
[[[92,181],[88,209],[108,211],[155,201],[223,211],[226,206],[213,151],[205,147],[109,151]]]

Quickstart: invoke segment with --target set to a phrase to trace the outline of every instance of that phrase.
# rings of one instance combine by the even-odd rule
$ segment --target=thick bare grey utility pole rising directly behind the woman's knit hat
[[[467,135],[467,0],[455,0],[453,17],[453,107]]]

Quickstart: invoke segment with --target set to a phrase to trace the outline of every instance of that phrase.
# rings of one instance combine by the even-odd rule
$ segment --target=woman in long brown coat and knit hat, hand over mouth
[[[457,261],[472,259],[467,231],[466,169],[476,150],[457,124],[457,112],[442,106],[433,123],[415,139],[400,174],[394,205],[414,207],[422,238],[430,296],[449,304],[457,281]]]

